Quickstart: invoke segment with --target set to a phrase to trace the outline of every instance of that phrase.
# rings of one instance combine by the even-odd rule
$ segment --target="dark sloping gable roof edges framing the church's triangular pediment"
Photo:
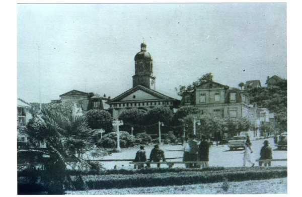
[[[178,100],[178,99],[174,99],[173,97],[170,97],[170,96],[167,96],[163,93],[160,93],[154,89],[150,89],[150,88],[147,88],[147,87],[144,87],[142,85],[137,85],[127,91],[125,91],[124,93],[121,93],[120,95],[116,96],[114,99],[110,100],[109,102],[107,102],[107,104],[110,104],[110,103],[114,103],[114,102],[119,102],[121,101],[124,97],[130,95],[131,93],[137,91],[137,90],[141,90],[141,91],[144,91],[150,95],[153,95],[155,97],[157,97],[158,99],[162,99],[162,100]]]

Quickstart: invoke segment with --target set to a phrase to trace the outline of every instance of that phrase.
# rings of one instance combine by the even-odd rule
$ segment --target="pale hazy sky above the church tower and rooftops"
[[[230,87],[287,78],[285,3],[18,4],[17,97],[49,103],[76,89],[132,88],[140,44],[156,89],[176,93],[211,72]]]

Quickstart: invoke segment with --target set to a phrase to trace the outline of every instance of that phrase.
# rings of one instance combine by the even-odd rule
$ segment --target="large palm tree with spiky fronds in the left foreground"
[[[88,127],[84,116],[42,110],[42,114],[28,124],[26,132],[34,146],[46,145],[46,148],[37,151],[48,155],[42,163],[48,194],[62,194],[64,181],[69,183],[67,186],[71,186],[71,179],[66,173],[67,166],[77,170],[100,170],[99,166],[81,157],[93,147],[93,138],[97,135]]]

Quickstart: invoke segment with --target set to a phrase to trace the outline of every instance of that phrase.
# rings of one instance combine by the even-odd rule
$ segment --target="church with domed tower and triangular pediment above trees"
[[[146,44],[140,45],[140,52],[135,57],[135,75],[132,76],[133,87],[107,102],[110,105],[113,119],[133,108],[148,111],[154,107],[163,106],[170,109],[178,108],[180,100],[177,95],[167,95],[156,89],[156,77],[153,76],[153,59],[146,51]]]

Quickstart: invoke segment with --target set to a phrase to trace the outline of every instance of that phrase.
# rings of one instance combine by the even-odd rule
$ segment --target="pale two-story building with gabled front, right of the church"
[[[219,118],[251,119],[252,109],[249,96],[240,89],[231,88],[214,81],[198,85],[194,90],[184,92],[182,106],[194,105],[207,113]]]

